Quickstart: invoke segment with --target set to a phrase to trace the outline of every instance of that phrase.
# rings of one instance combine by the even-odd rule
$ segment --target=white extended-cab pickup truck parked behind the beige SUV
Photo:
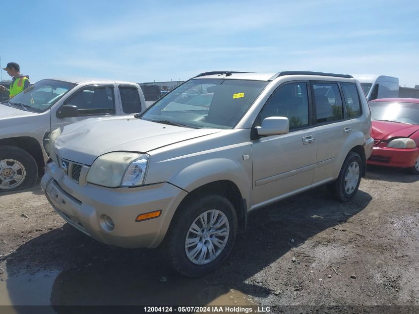
[[[48,160],[48,135],[93,117],[133,115],[147,107],[136,83],[43,79],[0,104],[0,192],[31,187]]]

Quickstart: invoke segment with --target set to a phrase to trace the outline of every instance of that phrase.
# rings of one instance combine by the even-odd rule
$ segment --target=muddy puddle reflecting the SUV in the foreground
[[[202,279],[162,279],[121,268],[20,273],[0,281],[0,305],[254,305],[236,289]]]

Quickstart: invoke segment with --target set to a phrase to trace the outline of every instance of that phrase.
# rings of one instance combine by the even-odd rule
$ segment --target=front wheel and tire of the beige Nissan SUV
[[[190,200],[178,211],[167,235],[173,267],[187,277],[215,270],[236,239],[237,216],[232,203],[221,195],[208,195]]]

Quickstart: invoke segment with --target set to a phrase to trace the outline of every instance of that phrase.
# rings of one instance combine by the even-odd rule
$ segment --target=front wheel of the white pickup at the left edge
[[[38,178],[38,165],[25,150],[0,146],[0,192],[32,187]]]

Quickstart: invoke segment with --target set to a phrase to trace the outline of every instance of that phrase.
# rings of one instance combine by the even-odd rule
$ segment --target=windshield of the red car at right
[[[419,125],[419,104],[370,102],[372,120],[393,121]]]

